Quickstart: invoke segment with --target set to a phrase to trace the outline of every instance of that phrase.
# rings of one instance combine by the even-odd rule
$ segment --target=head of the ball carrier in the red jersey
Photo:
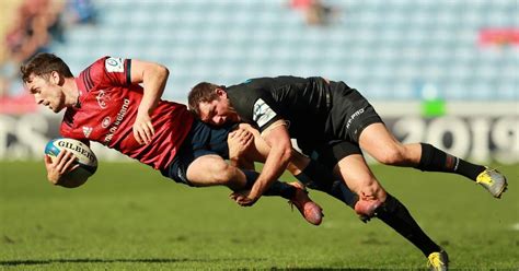
[[[38,54],[20,68],[22,80],[37,104],[58,113],[65,108],[65,79],[73,78],[69,67],[53,54]]]

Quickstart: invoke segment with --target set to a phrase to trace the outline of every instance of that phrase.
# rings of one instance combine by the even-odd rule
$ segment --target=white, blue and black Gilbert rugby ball
[[[45,146],[45,154],[54,158],[61,150],[70,151],[79,164],[78,168],[69,173],[70,177],[90,177],[97,170],[97,157],[85,143],[68,138],[53,139]]]

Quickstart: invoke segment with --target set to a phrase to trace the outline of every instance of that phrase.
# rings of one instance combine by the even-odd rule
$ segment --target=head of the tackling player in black
[[[240,120],[227,97],[226,86],[207,82],[195,85],[187,97],[189,109],[215,126]]]

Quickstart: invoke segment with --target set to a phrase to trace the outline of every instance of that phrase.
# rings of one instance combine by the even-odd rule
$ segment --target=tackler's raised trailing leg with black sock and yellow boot
[[[424,172],[455,173],[477,181],[496,198],[507,186],[500,173],[455,157],[431,144],[401,143],[382,122],[366,127],[360,133],[359,144],[382,164],[411,166]]]

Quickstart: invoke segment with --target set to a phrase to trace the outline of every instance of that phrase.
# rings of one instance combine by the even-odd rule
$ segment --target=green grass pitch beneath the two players
[[[373,168],[452,268],[519,268],[519,165],[499,166],[509,179],[501,200],[459,176]],[[326,214],[319,227],[282,199],[240,208],[226,188],[188,188],[135,163],[102,163],[77,189],[49,185],[39,162],[0,169],[0,269],[426,268],[391,228],[365,225],[316,191]]]

